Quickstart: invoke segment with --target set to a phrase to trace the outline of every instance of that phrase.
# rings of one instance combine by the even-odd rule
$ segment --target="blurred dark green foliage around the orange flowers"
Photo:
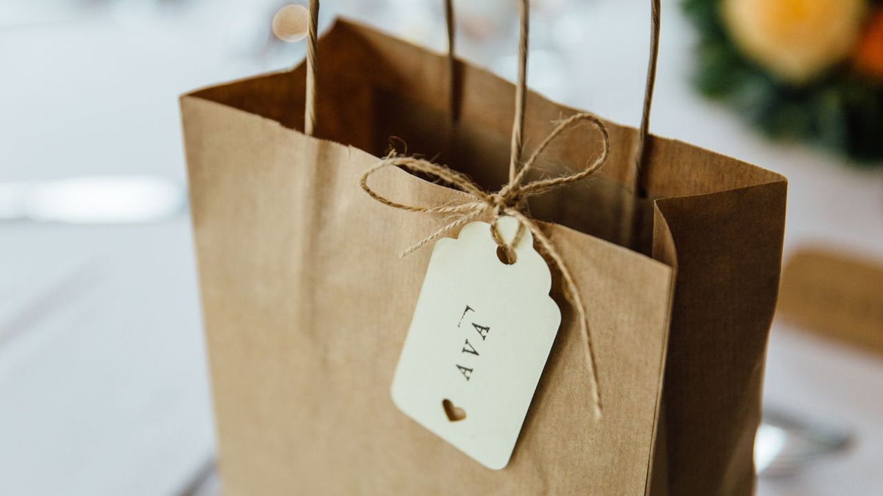
[[[883,3],[883,0],[874,0]],[[775,79],[736,48],[721,21],[721,0],[684,0],[700,41],[693,82],[774,139],[805,140],[846,154],[860,166],[883,165],[883,84],[833,67],[804,86]]]

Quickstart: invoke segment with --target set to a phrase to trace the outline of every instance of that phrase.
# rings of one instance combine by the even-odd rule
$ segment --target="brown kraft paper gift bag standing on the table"
[[[314,136],[305,64],[181,99],[224,491],[751,493],[785,179],[650,137],[636,195],[639,134],[607,123],[604,167],[530,203],[586,302],[603,417],[555,282],[558,337],[509,465],[488,470],[390,400],[430,250],[398,253],[441,221],[358,180],[397,136],[497,189],[513,86],[343,20],[318,53]],[[576,110],[528,94],[525,112],[529,152]],[[596,137],[567,132],[545,168],[582,167]],[[403,169],[372,183],[410,204],[458,194]]]

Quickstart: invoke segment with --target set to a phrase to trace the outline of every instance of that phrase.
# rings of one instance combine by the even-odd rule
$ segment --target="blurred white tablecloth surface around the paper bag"
[[[183,183],[177,95],[291,64],[303,52],[264,47],[273,2],[84,4],[85,13],[60,1],[43,10],[0,4],[0,14],[19,16],[0,24],[0,182],[148,173]],[[322,26],[343,11],[442,47],[440,7],[323,4]],[[537,4],[532,86],[637,124],[645,3]],[[883,169],[853,169],[758,137],[691,92],[693,38],[674,2],[663,3],[662,26],[653,132],[789,177],[786,257],[821,244],[883,259]],[[432,30],[439,34],[425,35]],[[512,43],[512,35],[496,40],[494,55],[467,41],[462,55],[509,75],[511,57],[501,50],[514,53]],[[566,43],[585,49],[556,48]],[[775,324],[766,401],[849,425],[857,443],[805,473],[762,479],[759,493],[879,491],[880,384],[878,357]],[[185,493],[213,451],[186,216],[140,226],[0,224],[0,494]]]

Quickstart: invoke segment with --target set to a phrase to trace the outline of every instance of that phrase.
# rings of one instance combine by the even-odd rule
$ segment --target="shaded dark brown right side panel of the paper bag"
[[[658,447],[668,457],[668,476],[659,477],[672,494],[753,491],[786,190],[782,181],[657,201],[677,256],[662,401],[666,439]]]

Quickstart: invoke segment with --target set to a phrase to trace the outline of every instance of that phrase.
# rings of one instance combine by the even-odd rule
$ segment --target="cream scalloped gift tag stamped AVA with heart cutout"
[[[514,217],[497,229],[513,239]],[[509,463],[561,324],[546,260],[525,229],[515,262],[487,222],[440,239],[392,383],[405,415],[488,468]]]

